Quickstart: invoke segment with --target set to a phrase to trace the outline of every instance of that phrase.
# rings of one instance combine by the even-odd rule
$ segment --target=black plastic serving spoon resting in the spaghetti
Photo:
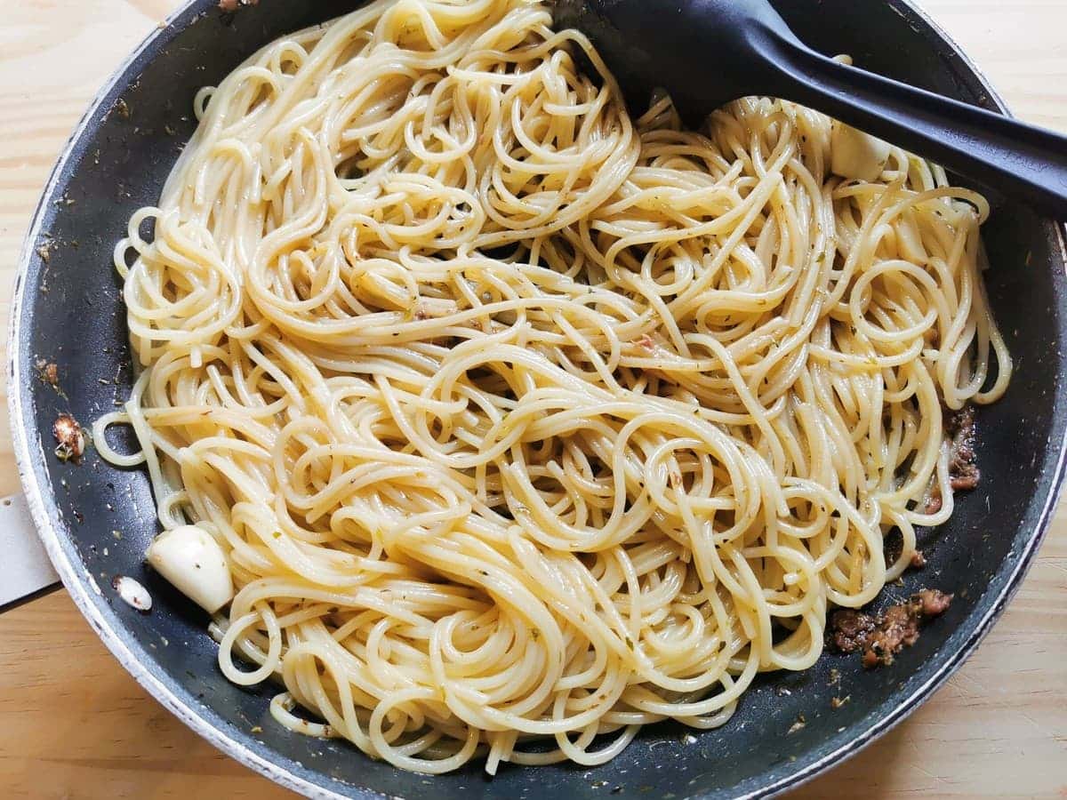
[[[632,105],[663,87],[696,121],[781,97],[1067,220],[1067,138],[822,55],[767,0],[557,0],[555,14],[589,36]]]

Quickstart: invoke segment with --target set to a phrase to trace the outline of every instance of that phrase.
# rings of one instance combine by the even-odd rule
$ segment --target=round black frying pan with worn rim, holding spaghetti
[[[371,761],[344,741],[290,734],[269,717],[274,687],[243,689],[219,673],[206,617],[142,563],[157,532],[146,476],[114,469],[93,449],[78,464],[60,462],[52,423],[71,413],[89,425],[127,396],[130,355],[111,251],[130,213],[156,202],[193,132],[196,90],[217,83],[282,33],[353,5],[260,0],[225,14],[217,0],[189,3],[97,97],[45,190],[14,297],[11,418],[33,521],[93,628],[194,731],[278,783],[317,797],[765,797],[899,722],[960,666],[1004,609],[1037,550],[1064,477],[1063,230],[996,195],[985,230],[992,263],[987,285],[1018,373],[1004,400],[981,412],[982,485],[961,496],[949,524],[921,532],[928,566],[879,599],[892,603],[923,586],[956,594],[947,614],[891,667],[864,671],[855,657],[827,655],[807,672],[760,677],[718,731],[655,725],[603,767],[505,767],[493,779],[477,765],[430,779]],[[875,71],[1005,111],[958,48],[907,0],[780,5],[816,49],[847,51]],[[64,395],[38,380],[41,358],[59,366]],[[150,613],[118,599],[111,585],[116,575],[147,587]],[[850,703],[831,708],[832,698],[845,695]]]

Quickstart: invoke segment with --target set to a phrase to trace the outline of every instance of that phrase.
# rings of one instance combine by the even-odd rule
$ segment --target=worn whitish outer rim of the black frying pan
[[[985,73],[967,55],[962,48],[960,48],[955,39],[950,36],[944,29],[941,28],[941,26],[935,22],[925,11],[915,4],[914,0],[887,0],[887,2],[897,13],[901,13],[899,10],[903,9],[918,17],[919,21],[925,25],[930,32],[939,37],[947,50],[951,51],[956,59],[958,59],[959,66],[964,67],[975,78],[983,91],[987,94],[989,101],[1004,115],[1013,116],[1004,99],[989,82]],[[312,783],[293,771],[265,758],[242,742],[228,736],[221,727],[213,724],[202,714],[197,713],[190,704],[181,700],[171,687],[154,675],[152,670],[142,665],[137,659],[134,653],[123,640],[122,636],[108,623],[107,620],[103,619],[99,609],[96,608],[90,594],[94,591],[99,594],[99,588],[97,587],[93,576],[85,571],[83,566],[75,565],[75,559],[71,558],[71,556],[76,556],[77,554],[73,553],[71,543],[67,542],[64,544],[64,540],[66,538],[61,537],[57,528],[55,521],[53,521],[48,513],[44,500],[44,490],[38,480],[39,476],[37,475],[36,469],[38,464],[35,463],[35,454],[31,444],[29,427],[29,423],[32,420],[28,416],[28,409],[32,405],[32,399],[30,397],[29,387],[19,384],[18,378],[22,372],[26,358],[21,338],[23,303],[26,299],[26,277],[30,271],[34,242],[37,241],[37,238],[41,235],[47,201],[54,194],[55,187],[64,176],[68,161],[82,134],[84,134],[84,132],[93,125],[97,114],[105,108],[105,102],[111,97],[116,86],[120,85],[123,79],[127,76],[131,68],[138,64],[138,62],[146,55],[149,59],[155,57],[154,46],[161,39],[168,38],[176,31],[184,30],[186,26],[192,23],[196,17],[201,16],[204,12],[197,10],[200,3],[201,0],[188,0],[185,5],[168,16],[166,19],[160,23],[157,30],[153,31],[133,50],[133,52],[122,62],[114,73],[112,73],[111,77],[108,78],[107,82],[93,98],[89,109],[79,121],[78,125],[75,127],[69,139],[64,145],[63,150],[55,162],[55,166],[52,167],[52,172],[45,185],[36,209],[34,210],[18,259],[18,269],[15,276],[15,287],[11,305],[11,320],[9,325],[10,353],[7,365],[7,405],[11,416],[15,463],[22,483],[22,489],[26,492],[27,503],[30,508],[30,515],[37,529],[37,534],[44,543],[48,557],[54,564],[57,572],[59,572],[64,586],[70,594],[71,599],[75,602],[75,605],[77,605],[79,611],[81,611],[90,626],[108,647],[111,654],[118,660],[122,667],[133,676],[138,684],[140,684],[160,704],[162,704],[164,708],[226,755],[233,757],[240,764],[243,764],[245,767],[259,772],[266,778],[269,778],[275,783],[292,789],[293,791],[298,791],[305,797],[324,798],[327,800],[345,800],[345,798],[371,800],[372,798],[384,798],[386,797],[385,795],[373,789],[362,786],[352,786],[350,784],[345,784],[346,789],[354,790],[354,794],[346,791],[341,795],[323,786]],[[185,20],[186,26],[177,28],[176,25],[182,20]],[[1067,241],[1065,241],[1067,225],[1053,224],[1053,228],[1056,231],[1061,261],[1062,263],[1067,263]],[[27,341],[26,347],[28,348],[28,346],[29,343]],[[44,458],[43,451],[41,451],[41,457],[42,459]],[[787,789],[797,788],[823,772],[826,772],[831,766],[839,764],[841,759],[856,755],[907,719],[962,666],[962,663],[971,656],[974,650],[992,629],[993,623],[996,623],[996,621],[1004,612],[1004,609],[1012,602],[1033,565],[1034,556],[1036,555],[1041,543],[1045,541],[1052,515],[1060,501],[1060,497],[1063,494],[1065,469],[1067,469],[1067,438],[1060,443],[1060,451],[1055,458],[1055,473],[1052,477],[1052,482],[1045,506],[1041,508],[1037,524],[1034,526],[1033,533],[1026,540],[1022,550],[1015,557],[1016,563],[1010,574],[1007,576],[1007,582],[1004,589],[986,610],[983,617],[976,622],[962,645],[951,653],[943,654],[944,662],[924,684],[899,702],[890,710],[889,714],[872,721],[865,730],[860,732],[857,738],[838,747],[829,753],[824,754],[811,764],[799,768],[797,771],[782,775],[780,779],[767,786],[763,786],[753,791],[738,796],[739,800],[754,800],[755,798],[776,797]],[[81,573],[84,573],[84,575]],[[324,774],[323,777],[329,778]]]

